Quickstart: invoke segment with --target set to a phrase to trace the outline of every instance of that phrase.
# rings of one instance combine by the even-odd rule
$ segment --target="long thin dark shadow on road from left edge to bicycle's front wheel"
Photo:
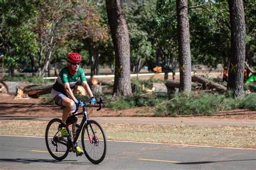
[[[78,162],[77,160],[52,160],[52,159],[34,159],[34,158],[17,158],[17,159],[0,159],[0,162],[16,162],[22,164],[31,163],[52,163],[52,164],[69,164],[69,165],[92,165],[91,162]]]

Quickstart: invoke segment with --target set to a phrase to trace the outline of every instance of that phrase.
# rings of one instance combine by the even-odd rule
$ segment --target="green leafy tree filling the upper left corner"
[[[0,1],[0,51],[4,53],[3,61],[11,74],[14,74],[14,69],[21,62],[19,57],[22,56],[23,47],[28,47],[30,44],[28,25],[31,18],[35,15],[36,2],[28,2],[21,0]],[[24,37],[27,36],[24,40]],[[23,45],[21,45],[21,41]],[[31,43],[32,44],[32,43]],[[19,51],[19,55],[17,55]],[[24,50],[24,56],[28,55],[30,49]],[[24,64],[24,63],[23,63]]]

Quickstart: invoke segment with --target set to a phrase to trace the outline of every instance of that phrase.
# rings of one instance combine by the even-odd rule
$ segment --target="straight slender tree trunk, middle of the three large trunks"
[[[187,0],[176,0],[178,18],[180,90],[191,91],[190,25]]]

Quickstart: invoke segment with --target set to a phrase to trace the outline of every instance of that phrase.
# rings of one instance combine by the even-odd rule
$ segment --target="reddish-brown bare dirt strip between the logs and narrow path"
[[[40,99],[15,99],[9,94],[0,93],[0,116],[4,117],[61,117],[62,110],[59,106],[40,105]],[[90,117],[153,117],[153,107],[131,108],[122,111],[113,111],[104,108],[100,111],[94,110]],[[190,116],[186,116],[190,117]],[[256,111],[232,110],[215,113],[212,116],[191,116],[193,119],[236,119],[236,120],[256,120]]]

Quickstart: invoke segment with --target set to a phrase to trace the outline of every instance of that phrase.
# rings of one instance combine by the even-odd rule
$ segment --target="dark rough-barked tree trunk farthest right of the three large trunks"
[[[244,95],[245,16],[242,0],[228,0],[231,22],[231,61],[228,70],[228,89],[234,97]]]

